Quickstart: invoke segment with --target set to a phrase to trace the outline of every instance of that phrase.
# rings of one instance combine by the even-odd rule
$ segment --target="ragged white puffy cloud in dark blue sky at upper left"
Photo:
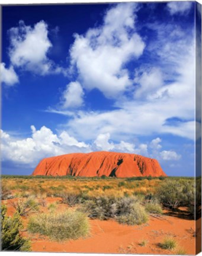
[[[48,37],[48,25],[43,20],[34,27],[21,20],[18,27],[12,27],[8,32],[9,57],[13,66],[39,75],[65,72],[47,57],[52,43]]]

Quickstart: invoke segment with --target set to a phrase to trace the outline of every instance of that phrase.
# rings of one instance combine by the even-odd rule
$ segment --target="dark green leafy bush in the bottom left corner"
[[[20,236],[23,228],[20,215],[6,216],[7,207],[1,205],[1,249],[3,251],[31,251],[30,241]]]

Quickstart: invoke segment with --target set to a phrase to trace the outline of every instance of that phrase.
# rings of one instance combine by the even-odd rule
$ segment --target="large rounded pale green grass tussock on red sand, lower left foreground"
[[[28,231],[49,236],[56,241],[63,241],[88,235],[89,223],[84,213],[78,211],[41,213],[30,217]]]

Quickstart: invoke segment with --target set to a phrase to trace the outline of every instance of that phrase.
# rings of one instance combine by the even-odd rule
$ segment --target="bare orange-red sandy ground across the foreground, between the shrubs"
[[[59,199],[47,199],[49,203]],[[14,213],[11,200],[4,200],[8,207],[8,215]],[[63,208],[59,204],[59,209]],[[24,225],[27,220],[23,217]],[[120,254],[177,254],[179,248],[185,254],[195,254],[195,221],[188,219],[185,209],[180,213],[164,211],[162,216],[150,216],[149,222],[139,226],[120,225],[114,220],[89,220],[91,233],[85,239],[75,241],[54,242],[39,235],[29,234],[26,229],[23,236],[31,239],[32,250],[35,252],[86,252],[86,253],[120,253]],[[200,220],[197,222],[200,228]],[[159,243],[165,237],[172,237],[177,241],[174,251],[161,249]],[[198,229],[197,239],[201,241]],[[146,240],[145,246],[140,242]]]

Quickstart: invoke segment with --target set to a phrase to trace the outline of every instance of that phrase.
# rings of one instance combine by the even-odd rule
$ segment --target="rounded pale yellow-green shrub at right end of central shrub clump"
[[[117,216],[116,219],[121,224],[140,225],[148,221],[148,215],[140,203],[133,203],[130,212]]]

